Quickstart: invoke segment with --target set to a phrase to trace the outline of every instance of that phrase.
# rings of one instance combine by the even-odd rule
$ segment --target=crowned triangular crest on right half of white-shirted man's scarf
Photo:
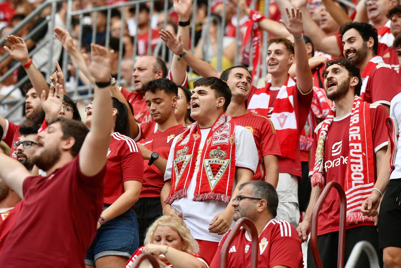
[[[209,152],[210,159],[203,160],[203,166],[212,191],[227,171],[227,167],[229,167],[231,159],[225,159],[226,156],[226,151],[221,150],[220,146],[217,146],[217,149]]]

